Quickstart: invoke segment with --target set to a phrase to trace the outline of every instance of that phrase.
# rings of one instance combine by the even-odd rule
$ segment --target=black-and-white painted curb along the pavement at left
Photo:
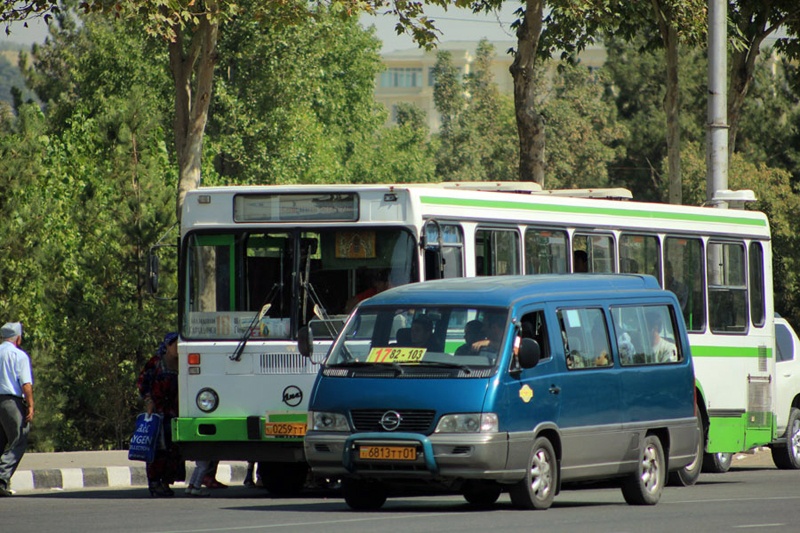
[[[194,465],[186,466],[186,479],[194,472]],[[220,463],[217,480],[226,485],[243,483],[247,467]],[[176,486],[185,486],[176,482]],[[11,478],[11,489],[16,492],[39,489],[83,489],[107,487],[146,487],[147,471],[142,466],[104,466],[86,468],[52,468],[42,470],[17,470]]]

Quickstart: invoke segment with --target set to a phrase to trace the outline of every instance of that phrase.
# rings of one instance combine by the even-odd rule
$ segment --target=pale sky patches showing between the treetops
[[[482,38],[490,41],[516,40],[511,31],[514,21],[514,10],[517,2],[504,2],[504,8],[498,13],[475,15],[468,9],[451,8],[448,11],[440,7],[427,6],[425,12],[433,19],[436,27],[442,31],[439,40],[444,41],[479,41]],[[408,35],[397,35],[394,29],[396,17],[391,15],[363,15],[361,24],[365,27],[375,26],[376,34],[383,41],[383,52],[417,48]],[[0,43],[14,43],[30,46],[43,42],[47,37],[47,27],[41,19],[28,22],[28,27],[21,23],[11,27],[11,35],[0,28]]]

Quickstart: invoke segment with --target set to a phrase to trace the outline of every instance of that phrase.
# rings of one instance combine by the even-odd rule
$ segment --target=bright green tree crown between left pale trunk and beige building
[[[348,180],[381,124],[372,97],[380,42],[357,21],[305,26],[237,20],[223,28],[207,155],[221,183]]]

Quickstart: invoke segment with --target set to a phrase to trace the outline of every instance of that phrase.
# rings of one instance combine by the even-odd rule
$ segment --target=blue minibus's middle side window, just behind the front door
[[[567,368],[574,370],[614,364],[602,309],[560,309],[558,322]]]

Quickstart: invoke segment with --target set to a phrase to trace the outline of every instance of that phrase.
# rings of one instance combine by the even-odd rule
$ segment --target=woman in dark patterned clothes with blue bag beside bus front
[[[162,416],[163,443],[152,463],[147,463],[150,495],[173,496],[169,487],[186,478],[186,466],[178,446],[172,442],[172,419],[178,416],[178,334],[167,333],[154,355],[144,366],[136,383],[148,413]]]

